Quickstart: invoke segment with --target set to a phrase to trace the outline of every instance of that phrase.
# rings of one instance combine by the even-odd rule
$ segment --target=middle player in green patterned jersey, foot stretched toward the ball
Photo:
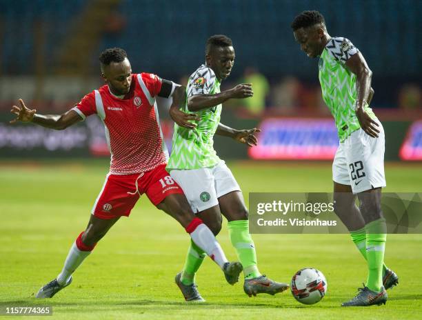
[[[221,81],[226,79],[234,64],[234,48],[230,38],[214,35],[205,48],[205,64],[193,72],[186,88],[184,112],[193,112],[199,118],[193,128],[174,126],[172,154],[167,170],[188,198],[190,206],[205,224],[218,234],[221,214],[228,219],[230,241],[243,266],[243,290],[250,297],[259,293],[276,294],[289,288],[259,272],[257,254],[249,234],[248,209],[239,184],[232,172],[219,159],[213,147],[214,134],[254,146],[256,128],[234,130],[220,123],[221,103],[228,99],[252,97],[251,84],[239,84],[220,92]],[[191,242],[182,272],[176,283],[186,301],[204,301],[197,290],[194,276],[205,257],[204,252]]]

